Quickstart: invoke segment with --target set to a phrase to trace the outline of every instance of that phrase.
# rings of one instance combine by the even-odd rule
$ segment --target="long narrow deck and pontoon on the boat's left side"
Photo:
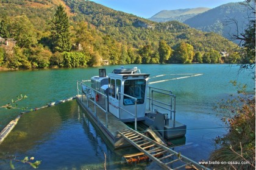
[[[112,143],[112,146],[116,148],[129,146],[130,144],[124,140],[118,131],[127,130],[128,127],[124,122],[120,121],[111,113],[106,113],[101,110],[99,107],[94,107],[93,102],[88,101],[87,107],[87,97],[84,95],[79,95],[77,101],[80,104],[80,107],[85,110],[89,118],[94,122],[94,125],[99,128],[99,131],[107,137],[108,142]],[[96,112],[95,112],[96,109]]]

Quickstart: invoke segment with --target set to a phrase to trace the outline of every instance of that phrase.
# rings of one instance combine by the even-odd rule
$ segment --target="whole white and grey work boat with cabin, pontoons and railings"
[[[154,132],[163,140],[185,136],[187,126],[176,121],[176,96],[149,87],[149,74],[138,68],[99,69],[90,85],[77,81],[77,101],[114,148],[129,145],[118,132],[132,127]],[[148,130],[149,132],[149,130]]]

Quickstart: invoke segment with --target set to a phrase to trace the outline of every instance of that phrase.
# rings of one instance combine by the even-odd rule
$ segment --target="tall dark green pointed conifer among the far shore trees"
[[[69,32],[69,20],[64,7],[59,5],[52,19],[51,41],[52,51],[63,52],[69,51],[71,48]]]

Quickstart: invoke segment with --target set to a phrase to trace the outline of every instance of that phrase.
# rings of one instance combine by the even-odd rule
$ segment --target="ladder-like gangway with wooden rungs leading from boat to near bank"
[[[133,129],[118,131],[118,133],[164,169],[180,169],[185,166],[194,169],[208,169]],[[177,167],[174,168],[174,166]]]

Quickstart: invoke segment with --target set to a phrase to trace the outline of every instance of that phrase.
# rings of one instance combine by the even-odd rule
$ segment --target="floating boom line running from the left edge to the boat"
[[[57,105],[57,104],[62,104],[64,102],[68,102],[68,101],[71,101],[73,99],[76,99],[76,96],[69,97],[67,99],[62,99],[62,100],[55,101],[55,102],[51,102],[51,103],[46,104],[46,105],[44,105],[42,107],[37,107],[37,108],[31,109],[31,110],[28,110],[26,112],[21,112],[20,115],[18,115],[14,120],[10,121],[9,124],[7,124],[7,126],[5,126],[5,128],[0,132],[0,144],[9,135],[9,133],[12,132],[13,128],[16,126],[16,124],[18,123],[18,121],[20,120],[21,116],[24,113],[34,112],[36,110],[40,110],[41,108],[46,108],[46,107],[51,107],[51,106],[54,106],[54,105]]]

